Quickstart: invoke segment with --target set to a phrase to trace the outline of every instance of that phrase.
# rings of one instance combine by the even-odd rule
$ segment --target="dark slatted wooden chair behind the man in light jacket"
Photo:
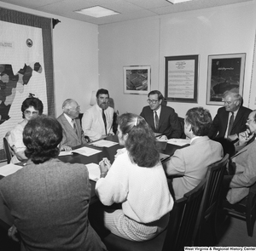
[[[207,222],[211,223],[211,225],[208,225],[207,227],[211,229],[212,237],[214,238],[214,241],[218,243],[216,231],[217,209],[224,179],[224,171],[225,168],[227,168],[228,163],[229,154],[226,154],[222,160],[213,163],[207,168],[207,185],[201,201],[193,237],[195,246],[201,246],[201,233]]]

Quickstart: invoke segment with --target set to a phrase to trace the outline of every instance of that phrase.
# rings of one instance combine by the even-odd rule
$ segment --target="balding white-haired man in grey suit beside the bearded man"
[[[65,100],[62,110],[63,113],[57,118],[63,128],[63,138],[60,144],[61,149],[65,149],[65,146],[73,147],[85,144],[86,140],[79,120],[80,106],[78,103],[72,99]]]

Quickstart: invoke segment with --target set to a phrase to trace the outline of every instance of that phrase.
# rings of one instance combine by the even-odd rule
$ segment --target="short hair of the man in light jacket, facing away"
[[[185,123],[191,124],[195,136],[207,136],[212,126],[212,116],[210,111],[203,107],[189,109],[184,119]]]

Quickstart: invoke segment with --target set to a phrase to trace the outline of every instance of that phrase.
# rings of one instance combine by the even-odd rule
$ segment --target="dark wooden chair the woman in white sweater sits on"
[[[132,242],[111,233],[102,241],[109,251],[179,251],[191,246],[205,185],[206,179],[174,203],[166,230],[154,239]]]

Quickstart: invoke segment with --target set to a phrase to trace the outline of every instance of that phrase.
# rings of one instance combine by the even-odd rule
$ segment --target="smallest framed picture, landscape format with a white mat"
[[[150,66],[124,66],[124,93],[145,94],[150,92]]]

